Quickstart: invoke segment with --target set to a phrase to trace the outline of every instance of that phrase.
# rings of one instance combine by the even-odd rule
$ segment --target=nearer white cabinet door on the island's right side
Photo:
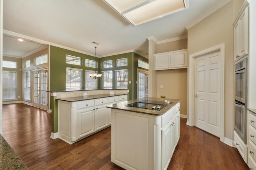
[[[171,122],[162,128],[162,170],[166,170],[171,160]]]

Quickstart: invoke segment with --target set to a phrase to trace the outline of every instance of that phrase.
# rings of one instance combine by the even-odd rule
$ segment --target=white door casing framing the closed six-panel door
[[[195,125],[195,63],[196,57],[220,51],[220,141],[224,142],[224,43],[189,55],[188,69],[188,121],[187,125]],[[228,143],[227,143],[228,144]],[[232,145],[232,144],[228,144]]]

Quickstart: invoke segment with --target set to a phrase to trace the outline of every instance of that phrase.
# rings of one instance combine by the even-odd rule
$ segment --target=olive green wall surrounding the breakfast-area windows
[[[82,58],[82,66],[77,66],[74,64],[66,64],[66,55],[72,55],[75,57]],[[116,67],[116,59],[128,58],[128,66]],[[66,90],[66,67],[80,68],[83,70],[83,81],[82,89],[85,89],[85,70],[94,70],[94,68],[85,66],[85,59],[95,60],[94,56],[78,53],[75,51],[70,51],[60,47],[50,46],[50,91],[64,91]],[[112,68],[103,68],[103,62],[112,60]],[[113,71],[113,89],[115,89],[115,74],[114,70],[127,69],[128,70],[128,89],[129,89],[129,100],[137,98],[137,68],[138,60],[142,60],[148,63],[148,59],[138,55],[137,53],[130,52],[120,55],[112,55],[108,57],[97,58],[96,61],[98,65],[98,73],[105,70]],[[140,68],[144,69],[144,68]],[[134,78],[134,79],[132,79]],[[134,81],[133,81],[134,80]],[[129,82],[132,82],[129,84]],[[102,78],[98,79],[98,88],[102,88]],[[134,89],[134,90],[133,90]]]

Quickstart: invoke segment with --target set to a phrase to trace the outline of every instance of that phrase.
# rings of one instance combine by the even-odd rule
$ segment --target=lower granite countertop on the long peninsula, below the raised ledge
[[[98,99],[98,98],[108,98],[113,96],[121,96],[127,94],[96,94],[90,96],[77,96],[77,97],[70,97],[70,98],[58,98],[57,100],[63,100],[66,102],[78,102],[82,100],[91,100],[91,99]]]

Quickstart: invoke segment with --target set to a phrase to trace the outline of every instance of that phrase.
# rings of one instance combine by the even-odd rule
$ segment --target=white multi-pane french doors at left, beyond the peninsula
[[[34,70],[33,106],[48,109],[47,68]]]

